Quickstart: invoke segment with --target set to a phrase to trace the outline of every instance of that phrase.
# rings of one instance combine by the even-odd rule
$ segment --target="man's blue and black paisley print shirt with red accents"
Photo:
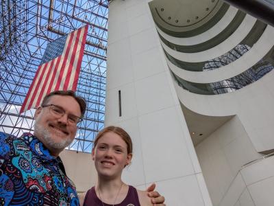
[[[60,157],[34,135],[0,132],[0,205],[79,205]]]

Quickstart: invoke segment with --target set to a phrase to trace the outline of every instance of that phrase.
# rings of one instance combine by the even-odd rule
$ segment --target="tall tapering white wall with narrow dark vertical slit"
[[[108,24],[105,125],[134,141],[123,179],[142,189],[156,182],[166,205],[212,205],[147,1],[112,1]]]

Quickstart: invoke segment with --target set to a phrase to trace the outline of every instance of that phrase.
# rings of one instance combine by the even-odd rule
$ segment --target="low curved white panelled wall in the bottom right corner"
[[[229,185],[220,206],[272,206],[274,157],[259,159],[241,168]]]

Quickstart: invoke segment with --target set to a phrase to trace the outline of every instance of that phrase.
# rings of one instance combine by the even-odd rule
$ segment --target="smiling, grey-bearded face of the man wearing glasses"
[[[75,138],[77,126],[68,124],[68,115],[81,116],[80,106],[71,96],[53,95],[46,105],[54,104],[63,108],[65,114],[56,117],[50,112],[50,106],[39,107],[34,118],[34,135],[49,149],[51,155],[58,156]]]

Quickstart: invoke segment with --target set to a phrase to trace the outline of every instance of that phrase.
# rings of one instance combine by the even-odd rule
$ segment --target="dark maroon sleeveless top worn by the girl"
[[[96,195],[95,187],[91,187],[91,189],[88,190],[88,192],[86,192],[86,196],[84,199],[84,206],[103,206],[103,205],[112,206],[107,203],[102,203],[101,200]],[[140,206],[136,188],[129,185],[127,196],[120,204],[116,204],[116,206]]]

